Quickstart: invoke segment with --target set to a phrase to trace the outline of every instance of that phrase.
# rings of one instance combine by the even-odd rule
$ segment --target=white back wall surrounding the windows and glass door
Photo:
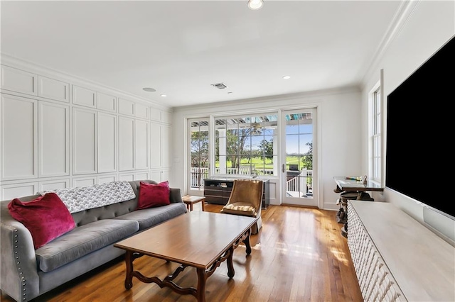
[[[360,175],[360,91],[356,88],[316,91],[309,94],[241,100],[225,104],[174,108],[173,183],[187,192],[186,119],[230,114],[311,108],[317,106],[319,198],[322,208],[336,210],[334,176]],[[281,162],[280,162],[281,164]],[[270,180],[270,203],[280,204],[279,179]],[[274,192],[275,194],[272,194]],[[202,192],[201,192],[202,194]]]

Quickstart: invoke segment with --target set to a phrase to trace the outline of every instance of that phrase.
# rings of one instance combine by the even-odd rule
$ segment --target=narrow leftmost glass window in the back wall
[[[188,179],[191,190],[203,190],[204,179],[209,176],[209,125],[209,118],[188,120],[191,150]]]

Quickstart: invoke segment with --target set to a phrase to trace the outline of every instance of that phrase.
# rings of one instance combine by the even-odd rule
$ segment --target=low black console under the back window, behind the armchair
[[[204,196],[206,203],[225,205],[228,203],[232,186],[235,179],[210,178],[204,179]],[[266,209],[270,204],[269,179],[259,179],[263,181],[264,192],[262,193],[262,208]]]

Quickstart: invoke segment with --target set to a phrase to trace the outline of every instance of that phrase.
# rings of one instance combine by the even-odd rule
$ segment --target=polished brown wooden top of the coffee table
[[[114,247],[208,269],[256,220],[191,211],[117,242]]]

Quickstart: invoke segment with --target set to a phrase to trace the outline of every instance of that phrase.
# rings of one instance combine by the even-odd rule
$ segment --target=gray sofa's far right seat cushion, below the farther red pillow
[[[136,220],[139,223],[139,229],[145,230],[186,212],[185,203],[171,203],[158,208],[144,208],[144,210],[127,213],[115,219]]]

